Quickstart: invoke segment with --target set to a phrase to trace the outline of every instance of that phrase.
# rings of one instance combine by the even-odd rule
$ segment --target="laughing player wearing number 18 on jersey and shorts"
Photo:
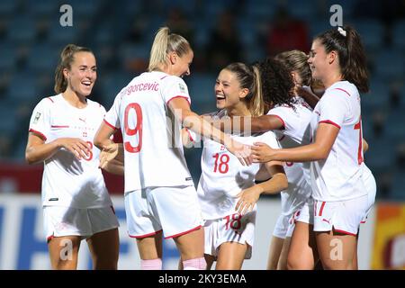
[[[220,71],[215,84],[218,112],[213,120],[232,116],[259,116],[264,112],[261,76],[258,67],[232,63]],[[279,91],[282,92],[283,91]],[[288,94],[288,90],[285,93]],[[257,140],[279,148],[275,133],[233,135],[239,142],[252,145]],[[279,193],[288,186],[283,163],[271,161],[260,166],[240,166],[238,159],[211,139],[203,140],[202,175],[198,198],[205,229],[205,259],[210,268],[241,269],[252,254],[257,201],[262,193]],[[260,171],[260,173],[259,173]],[[270,178],[270,179],[269,179]],[[255,184],[255,180],[266,180]]]

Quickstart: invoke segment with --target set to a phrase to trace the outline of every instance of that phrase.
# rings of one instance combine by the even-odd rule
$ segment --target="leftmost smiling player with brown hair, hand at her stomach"
[[[83,238],[94,269],[117,268],[119,224],[93,144],[105,109],[88,99],[96,77],[93,52],[67,45],[55,73],[57,95],[43,98],[31,116],[25,158],[44,163],[42,206],[53,269],[76,269]]]

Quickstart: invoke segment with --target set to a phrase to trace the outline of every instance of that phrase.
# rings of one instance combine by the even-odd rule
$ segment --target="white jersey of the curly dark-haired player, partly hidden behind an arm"
[[[294,108],[277,105],[267,112],[267,115],[275,115],[284,124],[284,130],[275,130],[282,148],[294,148],[311,142],[312,109],[301,97],[296,97],[295,100]],[[291,215],[311,196],[310,165],[284,162],[284,171],[288,179],[288,188],[281,193],[282,213]]]

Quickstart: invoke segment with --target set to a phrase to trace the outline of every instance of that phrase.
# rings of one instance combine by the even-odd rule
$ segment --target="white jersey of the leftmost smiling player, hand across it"
[[[100,150],[93,145],[94,134],[103,121],[105,109],[87,99],[87,106],[78,109],[62,94],[43,98],[32,112],[30,131],[45,143],[58,138],[80,138],[92,148],[89,157],[78,160],[65,148],[58,149],[44,161],[42,204],[79,209],[111,206],[99,166]]]

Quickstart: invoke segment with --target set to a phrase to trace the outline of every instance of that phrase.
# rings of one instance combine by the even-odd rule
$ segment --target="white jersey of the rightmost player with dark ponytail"
[[[355,85],[339,81],[325,91],[312,113],[312,139],[320,123],[335,125],[339,132],[328,158],[311,162],[313,198],[332,202],[365,195],[365,185],[360,181],[363,175],[360,95]]]

